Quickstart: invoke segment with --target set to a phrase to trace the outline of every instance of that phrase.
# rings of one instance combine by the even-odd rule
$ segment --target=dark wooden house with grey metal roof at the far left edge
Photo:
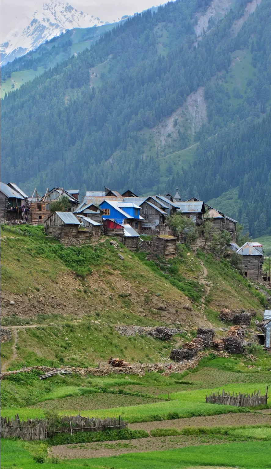
[[[20,190],[20,189],[19,189]],[[27,197],[27,196],[26,196]],[[28,218],[25,194],[16,191],[7,184],[0,184],[0,218],[1,222],[12,223]]]

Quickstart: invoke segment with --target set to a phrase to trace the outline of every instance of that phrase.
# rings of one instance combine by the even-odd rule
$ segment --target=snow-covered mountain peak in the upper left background
[[[39,5],[32,17],[26,16],[0,45],[1,65],[14,61],[15,57],[21,57],[66,30],[101,24],[105,23],[100,18],[85,15],[69,3],[52,1]]]

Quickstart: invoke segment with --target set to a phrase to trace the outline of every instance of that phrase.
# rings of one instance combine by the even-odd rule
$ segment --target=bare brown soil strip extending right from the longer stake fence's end
[[[131,430],[151,431],[155,428],[177,428],[184,427],[217,427],[222,425],[271,425],[271,416],[266,414],[221,414],[206,417],[178,418],[176,420],[162,420],[158,422],[141,422],[129,424]]]

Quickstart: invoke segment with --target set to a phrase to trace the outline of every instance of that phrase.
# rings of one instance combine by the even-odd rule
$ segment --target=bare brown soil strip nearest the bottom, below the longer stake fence
[[[204,438],[199,436],[170,436],[157,438],[140,438],[132,440],[103,441],[97,443],[83,443],[59,445],[52,447],[52,454],[59,458],[100,458],[103,456],[118,456],[127,453],[143,453],[148,451],[165,451],[184,448],[185,446],[214,445],[222,443],[221,439]],[[228,443],[225,439],[223,443]]]

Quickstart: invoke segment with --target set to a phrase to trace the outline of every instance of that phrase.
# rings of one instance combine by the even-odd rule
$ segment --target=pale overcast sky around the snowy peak
[[[49,0],[50,1],[50,0]],[[57,0],[56,0],[57,1]],[[62,0],[65,1],[65,0]],[[67,1],[67,0],[66,0]],[[157,2],[157,0],[156,0]],[[103,21],[113,23],[124,15],[133,15],[147,8],[156,6],[155,0],[70,0],[68,3],[89,15],[98,16]],[[15,28],[25,16],[31,13],[37,5],[46,3],[44,0],[1,0],[0,2],[0,42],[4,42],[10,30]]]

